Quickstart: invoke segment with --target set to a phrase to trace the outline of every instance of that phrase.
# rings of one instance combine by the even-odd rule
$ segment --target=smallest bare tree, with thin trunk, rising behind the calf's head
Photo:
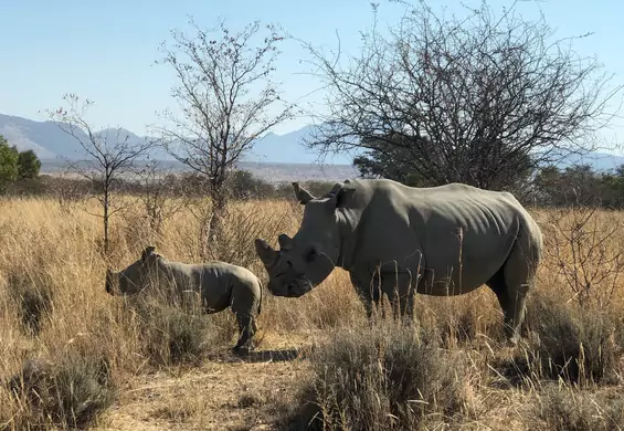
[[[115,192],[119,191],[123,177],[134,171],[136,161],[147,155],[152,144],[148,140],[133,143],[121,128],[95,132],[85,119],[93,102],[83,102],[76,94],[66,94],[63,101],[66,106],[47,113],[63,132],[76,139],[84,151],[81,156],[85,159],[65,158],[65,162],[72,171],[91,182],[95,198],[102,206],[102,213],[93,216],[102,218],[103,249],[108,255],[110,217],[124,208],[115,199]]]

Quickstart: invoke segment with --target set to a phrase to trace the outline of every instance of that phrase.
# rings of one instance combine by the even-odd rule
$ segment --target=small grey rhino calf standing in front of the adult
[[[124,295],[148,291],[157,281],[159,286],[171,286],[177,293],[191,291],[201,294],[203,311],[219,313],[230,307],[236,315],[240,338],[235,353],[254,348],[256,318],[261,313],[262,284],[247,269],[225,262],[202,264],[170,262],[155,253],[154,246],[144,250],[141,257],[125,270],[106,270],[106,292],[114,295],[117,284]]]

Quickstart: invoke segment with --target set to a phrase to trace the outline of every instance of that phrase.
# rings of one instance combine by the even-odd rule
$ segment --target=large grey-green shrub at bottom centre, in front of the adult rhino
[[[313,429],[415,430],[465,411],[461,359],[421,327],[339,330],[310,366],[298,420]]]

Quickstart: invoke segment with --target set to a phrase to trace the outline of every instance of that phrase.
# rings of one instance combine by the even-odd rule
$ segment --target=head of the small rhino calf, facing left
[[[119,286],[119,292],[124,295],[142,291],[147,286],[149,274],[156,271],[158,260],[162,259],[155,250],[152,245],[147,246],[139,260],[119,272],[106,270],[106,292],[115,295],[115,285]]]

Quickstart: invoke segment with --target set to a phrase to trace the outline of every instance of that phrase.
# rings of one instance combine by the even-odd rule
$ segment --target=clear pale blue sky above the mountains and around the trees
[[[379,0],[381,24],[396,22],[402,9]],[[464,3],[477,6],[478,0]],[[464,13],[457,0],[432,0],[431,4]],[[490,0],[497,9],[510,0]],[[624,1],[544,0],[520,1],[526,18],[541,10],[558,36],[595,32],[578,41],[582,54],[596,54],[624,84]],[[224,19],[242,28],[258,19],[279,23],[294,36],[315,45],[336,48],[338,31],[342,51],[357,53],[359,31],[372,23],[369,0],[2,0],[0,3],[0,113],[45,119],[39,113],[61,105],[62,95],[77,93],[96,103],[89,119],[96,126],[121,125],[137,134],[157,120],[156,111],[174,108],[170,87],[174,84],[167,66],[156,66],[160,42],[170,29],[184,29],[187,15],[205,27]],[[302,103],[321,101],[314,92],[318,83],[300,74],[305,52],[294,42],[283,46],[278,78],[286,98]],[[304,95],[311,95],[302,98]],[[285,133],[309,123],[299,117],[276,128]],[[624,137],[624,122],[612,130]],[[611,133],[610,133],[611,135]]]

